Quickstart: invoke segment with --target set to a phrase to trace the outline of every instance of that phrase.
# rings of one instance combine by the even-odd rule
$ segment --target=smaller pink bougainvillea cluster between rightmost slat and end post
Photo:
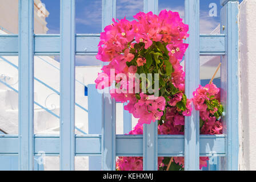
[[[219,88],[214,84],[199,85],[197,90],[193,92],[193,96],[195,110],[199,110],[200,118],[205,122],[201,128],[201,134],[222,134],[222,123],[218,121],[219,118],[214,116],[220,106]],[[210,110],[209,105],[213,100],[218,103],[213,105]],[[206,102],[209,104],[207,105]]]

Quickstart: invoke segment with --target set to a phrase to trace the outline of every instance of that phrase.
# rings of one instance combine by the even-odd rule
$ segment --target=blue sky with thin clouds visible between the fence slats
[[[59,0],[41,0],[49,11],[46,18],[49,31],[47,34],[59,34]],[[184,0],[158,0],[159,11],[163,9],[178,11],[181,17],[184,17]],[[242,0],[239,0],[241,2]],[[100,33],[101,27],[101,0],[76,0],[75,21],[77,34]],[[211,7],[217,5],[217,16],[209,16]],[[219,0],[201,0],[200,1],[200,32],[201,34],[210,34],[219,24],[219,13],[221,5]],[[117,0],[117,18],[133,19],[133,15],[143,10],[143,0]],[[217,32],[218,33],[218,32]],[[58,57],[56,57],[58,60]],[[77,56],[77,65],[95,65],[100,64],[94,56]]]

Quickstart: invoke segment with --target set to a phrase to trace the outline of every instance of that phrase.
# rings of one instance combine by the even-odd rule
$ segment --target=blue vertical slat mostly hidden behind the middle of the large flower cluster
[[[152,11],[158,14],[158,0],[144,0],[143,11],[145,13]],[[143,125],[143,170],[157,171],[157,121],[150,125]]]

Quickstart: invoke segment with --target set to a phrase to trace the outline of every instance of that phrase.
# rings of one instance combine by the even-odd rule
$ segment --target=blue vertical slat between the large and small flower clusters
[[[193,91],[199,80],[199,1],[185,0],[185,23],[189,24],[189,44],[185,53],[185,92],[187,98],[193,97]],[[185,170],[199,170],[199,112],[193,110],[185,117]]]

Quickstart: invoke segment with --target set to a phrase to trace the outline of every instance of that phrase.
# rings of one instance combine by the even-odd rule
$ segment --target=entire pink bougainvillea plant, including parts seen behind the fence
[[[166,10],[159,15],[139,12],[134,18],[113,19],[101,33],[96,56],[109,63],[98,74],[96,88],[114,85],[111,97],[127,102],[125,110],[138,118],[129,134],[142,134],[143,124],[157,121],[158,134],[183,135],[192,102],[200,113],[201,134],[221,134],[219,89],[210,84],[199,86],[191,99],[185,95],[185,72],[180,62],[189,46],[183,43],[189,36],[187,24],[177,12]],[[209,158],[199,160],[202,168]],[[158,169],[166,169],[169,162],[170,158],[159,157]],[[183,157],[174,157],[171,165],[176,165],[172,169],[183,169]],[[119,157],[117,169],[142,170],[142,157]]]

